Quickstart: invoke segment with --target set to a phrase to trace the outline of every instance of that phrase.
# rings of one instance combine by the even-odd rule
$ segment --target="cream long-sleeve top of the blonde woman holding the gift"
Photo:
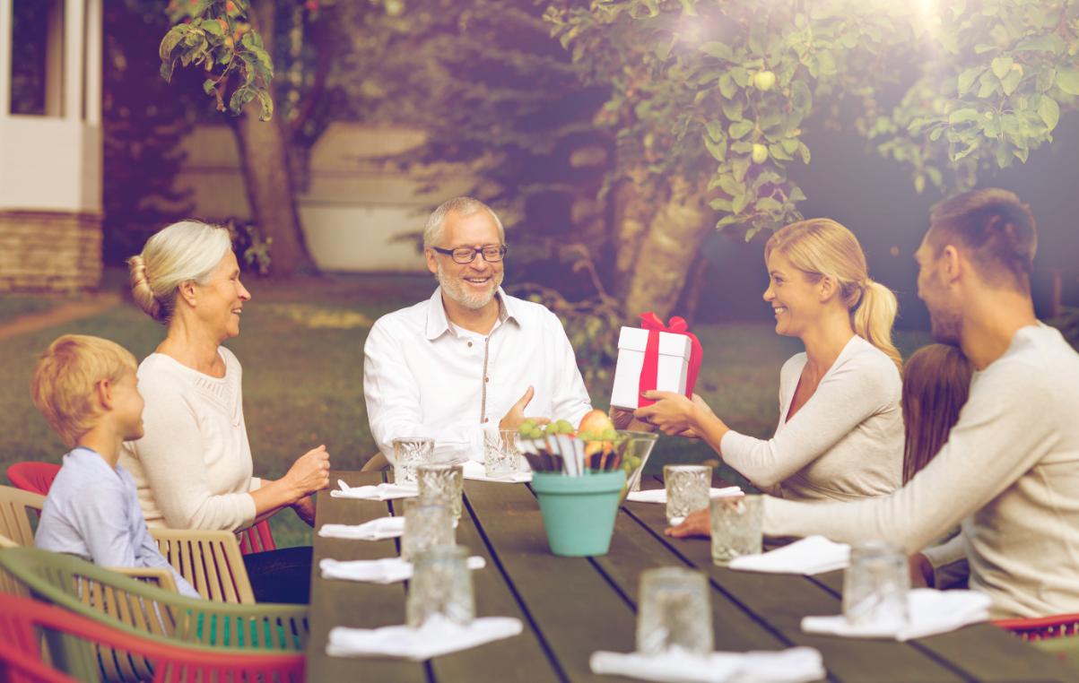
[[[896,364],[857,334],[787,421],[806,365],[780,372],[779,424],[770,439],[723,436],[723,460],[755,486],[788,500],[848,501],[891,493],[903,480],[902,379]]]

